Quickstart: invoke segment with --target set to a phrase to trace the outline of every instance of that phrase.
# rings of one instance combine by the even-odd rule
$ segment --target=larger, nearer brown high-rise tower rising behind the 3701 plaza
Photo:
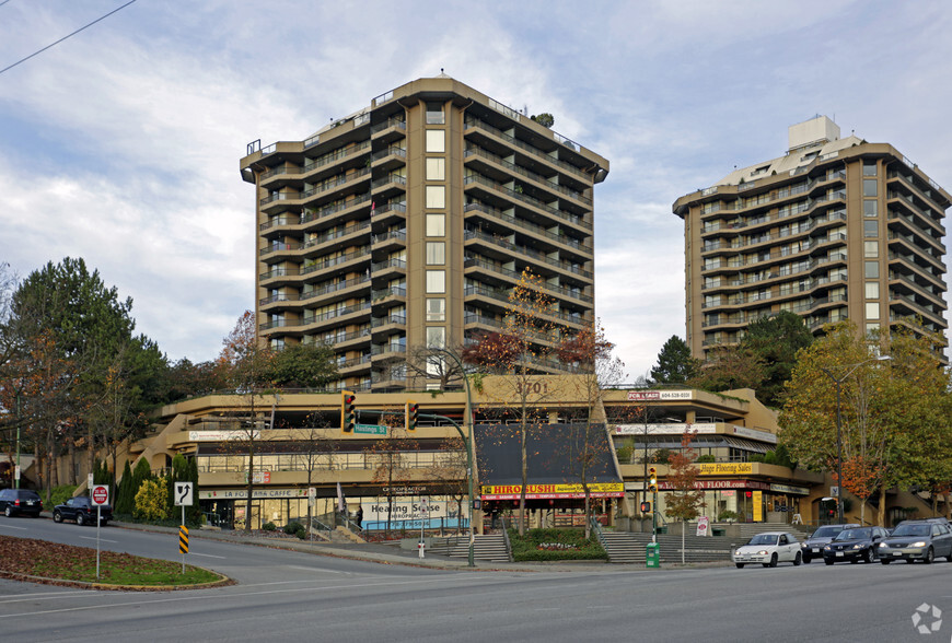
[[[259,337],[333,346],[341,388],[438,388],[440,364],[406,359],[498,330],[524,268],[555,301],[550,322],[594,323],[593,186],[608,162],[452,78],[303,141],[252,143],[241,172]]]

